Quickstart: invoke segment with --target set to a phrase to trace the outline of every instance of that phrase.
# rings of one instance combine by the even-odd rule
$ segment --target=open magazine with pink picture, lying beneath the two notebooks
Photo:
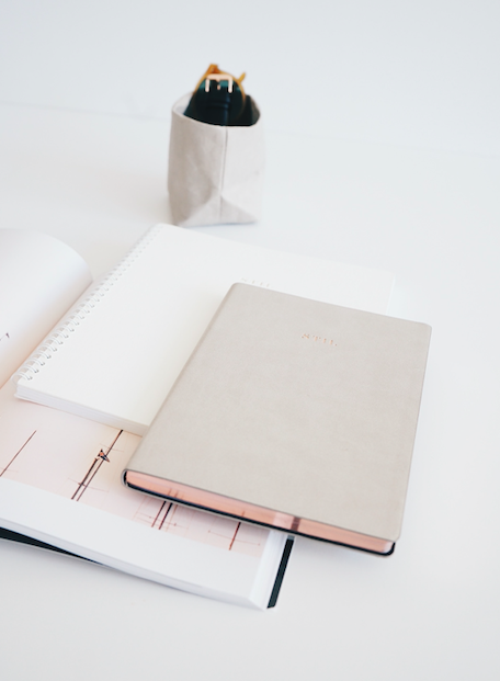
[[[286,534],[126,489],[121,473],[138,435],[14,397],[10,376],[90,284],[89,268],[64,243],[0,230],[0,536],[193,593],[274,605]]]

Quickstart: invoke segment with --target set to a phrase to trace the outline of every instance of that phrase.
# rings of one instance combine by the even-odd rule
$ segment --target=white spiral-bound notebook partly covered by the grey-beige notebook
[[[157,225],[20,367],[16,397],[143,435],[237,282],[385,313],[393,275]]]

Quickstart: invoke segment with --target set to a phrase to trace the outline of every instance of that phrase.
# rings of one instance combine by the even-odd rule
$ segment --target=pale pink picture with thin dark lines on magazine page
[[[150,497],[122,485],[140,438],[0,390],[0,477],[225,551],[260,556],[268,530]]]

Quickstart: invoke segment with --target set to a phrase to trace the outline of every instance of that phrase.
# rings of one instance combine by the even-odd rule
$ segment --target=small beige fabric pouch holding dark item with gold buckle
[[[242,90],[243,77],[211,65],[194,93],[172,107],[168,189],[175,225],[252,223],[261,215],[262,116]]]

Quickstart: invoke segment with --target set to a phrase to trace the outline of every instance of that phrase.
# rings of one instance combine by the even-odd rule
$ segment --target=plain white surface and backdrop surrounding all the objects
[[[266,613],[0,544],[2,679],[500,676],[498,2],[0,2],[0,226],[110,268],[168,222],[170,106],[209,63],[266,125],[264,217],[204,228],[390,270],[433,327],[404,532],[298,540]]]

